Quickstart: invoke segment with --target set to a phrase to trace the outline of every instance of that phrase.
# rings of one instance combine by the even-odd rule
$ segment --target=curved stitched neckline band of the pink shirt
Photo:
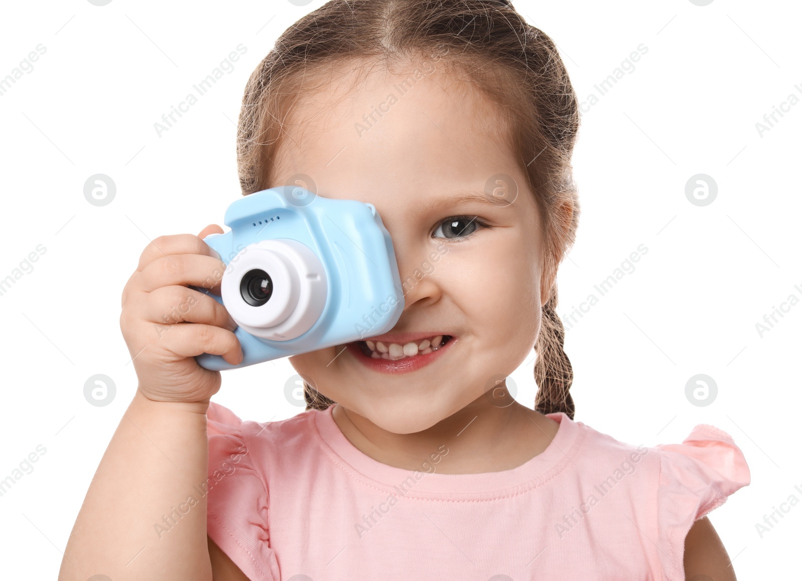
[[[529,458],[520,466],[500,472],[479,474],[440,474],[437,464],[423,464],[420,470],[406,470],[378,462],[359,450],[346,438],[332,417],[334,405],[326,410],[310,414],[313,433],[318,435],[318,443],[330,458],[342,469],[371,486],[386,490],[389,494],[402,493],[404,496],[432,498],[444,493],[457,495],[480,495],[482,498],[497,498],[500,494],[518,494],[520,491],[539,486],[553,478],[565,466],[573,464],[574,448],[581,422],[573,422],[563,413],[546,414],[559,424],[557,434],[541,454]],[[437,454],[440,450],[432,450]],[[428,471],[427,471],[428,470]]]

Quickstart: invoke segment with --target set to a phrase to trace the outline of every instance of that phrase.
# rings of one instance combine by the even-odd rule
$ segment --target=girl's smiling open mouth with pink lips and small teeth
[[[383,373],[407,373],[435,361],[453,343],[452,335],[435,335],[406,343],[352,341],[347,344],[354,357],[370,369]]]

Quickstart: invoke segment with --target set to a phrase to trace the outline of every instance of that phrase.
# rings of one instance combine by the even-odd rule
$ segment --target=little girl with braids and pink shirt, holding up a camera
[[[553,41],[503,0],[332,0],[286,30],[245,90],[243,192],[374,204],[403,313],[291,357],[306,411],[244,422],[193,359],[242,357],[189,288],[225,268],[202,240],[223,231],[153,240],[120,316],[138,389],[59,579],[735,579],[705,518],[749,483],[729,435],[630,446],[573,420],[578,125]],[[504,383],[533,348],[534,410]]]

